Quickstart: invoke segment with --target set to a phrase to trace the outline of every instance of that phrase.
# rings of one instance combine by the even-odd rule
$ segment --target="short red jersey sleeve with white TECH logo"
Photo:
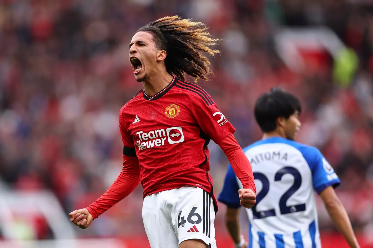
[[[216,144],[236,131],[204,90],[203,94],[191,96],[191,112],[202,131]]]

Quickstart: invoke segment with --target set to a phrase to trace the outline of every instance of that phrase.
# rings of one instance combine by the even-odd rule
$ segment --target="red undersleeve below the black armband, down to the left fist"
[[[126,157],[126,156],[124,156]],[[123,169],[109,189],[87,207],[93,218],[97,218],[110,207],[120,202],[136,189],[140,183],[140,171],[136,157],[126,157]]]

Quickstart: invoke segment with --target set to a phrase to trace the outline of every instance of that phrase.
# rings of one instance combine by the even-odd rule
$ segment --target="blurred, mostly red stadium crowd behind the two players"
[[[120,108],[141,88],[128,61],[135,31],[167,15],[194,18],[222,38],[211,81],[199,81],[235,126],[241,146],[261,138],[256,98],[273,86],[303,104],[297,140],[317,146],[342,180],[338,194],[357,232],[373,232],[373,7],[358,0],[0,0],[0,181],[52,190],[66,213],[85,207],[122,166]],[[305,56],[289,70],[275,49],[285,26],[325,25],[358,67],[336,80],[335,58]],[[216,194],[227,159],[212,141]],[[144,233],[142,187],[83,235]],[[318,202],[320,227],[332,231]],[[223,209],[223,206],[221,206]],[[223,211],[216,219],[224,230]],[[40,232],[39,238],[48,237]]]

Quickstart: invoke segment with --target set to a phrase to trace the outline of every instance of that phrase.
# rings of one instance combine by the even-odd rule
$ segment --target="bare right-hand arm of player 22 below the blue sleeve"
[[[350,219],[348,218],[346,209],[344,208],[341,200],[339,200],[332,186],[327,187],[320,193],[327,212],[332,218],[338,230],[345,237],[346,241],[352,248],[360,248],[357,239],[352,229]]]

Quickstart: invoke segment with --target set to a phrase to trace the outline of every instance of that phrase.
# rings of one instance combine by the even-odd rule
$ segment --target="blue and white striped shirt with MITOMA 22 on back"
[[[246,209],[249,248],[321,248],[314,190],[341,181],[321,152],[284,138],[264,139],[244,149],[253,168],[257,203]],[[218,200],[238,208],[242,184],[228,165]]]

